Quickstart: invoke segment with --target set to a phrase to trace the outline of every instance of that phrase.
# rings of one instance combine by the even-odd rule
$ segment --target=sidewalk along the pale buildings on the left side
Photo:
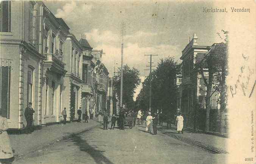
[[[111,118],[109,118],[109,121]],[[72,122],[67,124],[55,124],[42,127],[41,130],[35,130],[32,134],[12,134],[9,135],[12,148],[15,150],[14,155],[19,158],[23,154],[29,153],[34,149],[47,146],[60,141],[63,137],[72,133],[84,132],[93,127],[103,126],[101,123],[88,120],[88,123]]]

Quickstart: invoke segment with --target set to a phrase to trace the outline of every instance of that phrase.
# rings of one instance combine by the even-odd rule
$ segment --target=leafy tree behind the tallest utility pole
[[[133,95],[135,93],[136,87],[140,84],[139,70],[136,68],[130,68],[127,64],[123,66],[123,104],[126,104],[126,107],[133,109],[134,101]],[[114,75],[114,87],[117,93],[117,96],[120,98],[120,84],[121,84],[121,68],[118,68],[118,72]],[[120,106],[122,106],[120,104]]]

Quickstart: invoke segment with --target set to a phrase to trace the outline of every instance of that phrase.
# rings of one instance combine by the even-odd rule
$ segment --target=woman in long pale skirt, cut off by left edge
[[[7,159],[13,157],[7,129],[9,129],[7,119],[1,116],[0,111],[0,163],[4,163]]]

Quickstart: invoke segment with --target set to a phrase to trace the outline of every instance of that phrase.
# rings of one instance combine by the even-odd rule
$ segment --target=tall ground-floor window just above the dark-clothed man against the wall
[[[28,66],[28,81],[27,81],[27,106],[28,103],[33,103],[33,71],[34,68]]]

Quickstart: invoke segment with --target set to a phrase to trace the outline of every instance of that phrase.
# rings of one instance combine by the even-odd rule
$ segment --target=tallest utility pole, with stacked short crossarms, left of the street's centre
[[[125,36],[125,23],[121,23],[121,38],[122,38],[122,44],[121,44],[121,86],[120,86],[120,108],[123,107],[123,37]]]

